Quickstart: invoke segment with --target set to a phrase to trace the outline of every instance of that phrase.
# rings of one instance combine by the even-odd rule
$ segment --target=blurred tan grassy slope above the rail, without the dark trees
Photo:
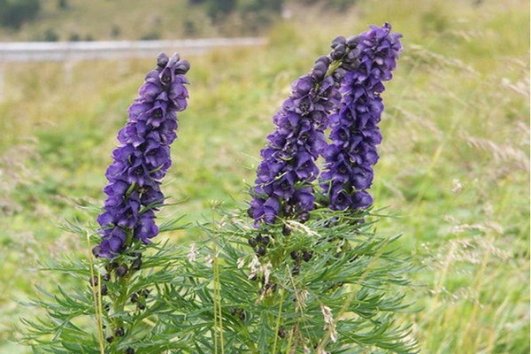
[[[65,4],[61,6],[62,4]],[[204,4],[188,0],[43,0],[36,19],[19,30],[0,27],[0,41],[175,39],[253,35],[280,14],[208,16]],[[215,22],[215,23],[214,23]]]

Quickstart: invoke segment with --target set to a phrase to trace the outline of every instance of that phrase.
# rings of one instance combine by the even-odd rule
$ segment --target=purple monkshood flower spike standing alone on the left
[[[97,218],[102,241],[93,249],[96,257],[113,258],[133,239],[149,243],[158,235],[154,211],[164,201],[160,180],[172,164],[176,112],[187,106],[188,71],[189,62],[178,54],[161,54],[129,107],[127,125],[118,134],[120,145],[105,173],[107,199]]]

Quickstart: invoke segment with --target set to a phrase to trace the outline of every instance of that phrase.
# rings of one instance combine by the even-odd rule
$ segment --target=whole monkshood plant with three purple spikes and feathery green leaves
[[[368,192],[400,37],[385,24],[335,38],[273,116],[250,201],[199,224],[206,241],[186,246],[151,241],[180,227],[155,221],[188,98],[189,63],[161,55],[119,132],[99,227],[68,224],[93,255],[48,267],[88,286],[36,300],[47,316],[25,319],[25,342],[53,353],[415,352],[396,322],[412,268],[390,251],[397,236],[375,232]]]

